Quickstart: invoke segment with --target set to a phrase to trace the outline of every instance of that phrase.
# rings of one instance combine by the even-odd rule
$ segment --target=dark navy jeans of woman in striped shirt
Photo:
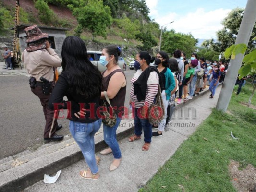
[[[142,129],[143,129],[144,141],[146,143],[151,143],[152,125],[149,123],[148,119],[140,119],[138,117],[138,109],[139,108],[135,108],[135,112],[134,112],[135,135],[140,136],[142,134]]]

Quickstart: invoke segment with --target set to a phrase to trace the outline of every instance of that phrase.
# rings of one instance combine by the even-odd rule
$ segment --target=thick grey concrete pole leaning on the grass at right
[[[248,0],[245,10],[244,16],[239,27],[238,35],[235,41],[236,44],[244,43],[248,45],[249,39],[252,35],[252,30],[256,21],[256,0]],[[217,110],[226,112],[233,89],[235,86],[235,80],[238,75],[238,71],[241,67],[242,61],[244,58],[244,54],[238,54],[235,56],[234,60],[230,60],[230,66],[228,68],[225,81],[222,85],[222,89],[219,94],[218,103],[216,106]]]

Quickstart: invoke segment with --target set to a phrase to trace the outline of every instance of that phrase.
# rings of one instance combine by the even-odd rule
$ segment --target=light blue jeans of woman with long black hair
[[[80,147],[85,161],[93,174],[98,173],[98,167],[95,159],[94,135],[98,132],[101,125],[101,119],[93,123],[81,123],[69,121],[69,131],[74,140]]]

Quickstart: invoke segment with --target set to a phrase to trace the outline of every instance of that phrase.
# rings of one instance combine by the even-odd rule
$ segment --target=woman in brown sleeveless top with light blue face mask
[[[107,155],[111,152],[113,153],[114,160],[110,165],[110,171],[119,167],[122,158],[116,139],[116,130],[124,115],[124,101],[126,94],[126,78],[122,69],[117,64],[120,53],[120,48],[109,45],[103,48],[102,56],[100,56],[100,64],[107,67],[107,70],[102,73],[103,91],[107,91],[111,106],[117,114],[117,122],[113,127],[103,124],[104,141],[109,145],[109,148],[101,151],[100,154]],[[106,99],[104,92],[101,92],[100,98],[103,100]]]

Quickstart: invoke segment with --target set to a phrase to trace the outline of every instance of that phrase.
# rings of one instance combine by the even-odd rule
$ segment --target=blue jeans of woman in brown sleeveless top
[[[112,153],[115,159],[120,159],[122,157],[121,150],[119,148],[117,139],[116,139],[116,130],[120,124],[121,118],[116,118],[116,124],[113,127],[109,127],[103,124],[103,134],[104,141],[112,149]]]

